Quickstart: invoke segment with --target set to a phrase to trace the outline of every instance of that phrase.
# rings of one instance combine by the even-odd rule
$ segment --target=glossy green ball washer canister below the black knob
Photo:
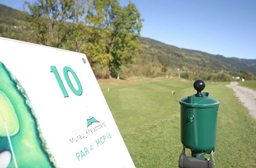
[[[217,114],[220,102],[208,97],[188,96],[181,105],[181,143],[192,151],[215,151]]]

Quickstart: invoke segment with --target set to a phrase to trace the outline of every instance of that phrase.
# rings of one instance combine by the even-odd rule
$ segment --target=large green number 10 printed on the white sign
[[[65,86],[63,85],[63,82],[62,82],[62,80],[59,76],[59,73],[58,73],[55,66],[51,66],[51,72],[53,72],[53,74],[54,74],[54,76],[55,76],[55,78],[56,78],[56,80],[59,84],[59,88],[60,88],[63,96],[64,97],[69,97],[68,92],[67,92]],[[71,82],[71,80],[69,78],[69,72],[73,75],[78,89],[75,89],[75,87],[73,86],[73,83]],[[63,75],[66,79],[66,82],[68,83],[68,86],[69,86],[70,90],[74,94],[76,94],[77,96],[80,96],[82,94],[82,86],[81,86],[81,83],[80,83],[76,73],[74,72],[74,70],[72,68],[66,66],[66,67],[63,68]]]

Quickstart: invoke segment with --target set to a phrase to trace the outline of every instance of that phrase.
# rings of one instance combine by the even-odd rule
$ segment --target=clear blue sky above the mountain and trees
[[[29,0],[33,2],[36,0]],[[129,0],[119,0],[121,6]],[[224,57],[256,59],[255,0],[130,0],[144,19],[142,37]],[[23,0],[0,0],[23,10]]]

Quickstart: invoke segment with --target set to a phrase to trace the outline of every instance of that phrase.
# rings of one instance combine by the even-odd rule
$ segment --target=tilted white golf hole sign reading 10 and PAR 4
[[[0,46],[1,166],[134,167],[85,54]]]

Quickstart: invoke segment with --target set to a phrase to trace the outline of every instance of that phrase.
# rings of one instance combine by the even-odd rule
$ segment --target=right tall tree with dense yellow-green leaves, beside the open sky
[[[143,21],[140,13],[131,2],[121,7],[117,0],[98,0],[93,1],[87,20],[103,38],[104,51],[98,55],[99,62],[108,67],[112,77],[117,77],[123,61],[131,60],[127,53],[138,49]]]

